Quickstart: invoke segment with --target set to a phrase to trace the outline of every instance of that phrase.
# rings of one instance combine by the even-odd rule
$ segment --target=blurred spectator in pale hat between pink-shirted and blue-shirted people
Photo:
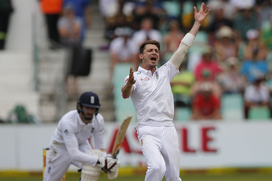
[[[238,59],[236,57],[228,58],[226,66],[226,70],[217,77],[223,94],[243,93],[245,81],[239,73]]]

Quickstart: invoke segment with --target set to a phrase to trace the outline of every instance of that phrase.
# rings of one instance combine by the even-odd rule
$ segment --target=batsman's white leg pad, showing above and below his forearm
[[[93,149],[88,152],[89,155],[102,157],[102,151]],[[80,181],[98,181],[101,173],[101,166],[82,165]]]

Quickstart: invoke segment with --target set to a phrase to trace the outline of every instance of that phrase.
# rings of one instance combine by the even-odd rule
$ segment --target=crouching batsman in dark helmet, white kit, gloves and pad
[[[60,181],[70,164],[81,171],[81,181],[97,181],[101,170],[108,179],[118,175],[120,162],[107,156],[104,143],[104,118],[99,113],[99,98],[93,92],[80,95],[76,110],[66,113],[51,138],[43,181]],[[93,136],[95,149],[88,138]]]

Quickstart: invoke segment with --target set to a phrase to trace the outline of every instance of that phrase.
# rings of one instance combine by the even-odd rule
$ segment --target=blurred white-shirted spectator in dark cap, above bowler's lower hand
[[[133,30],[130,27],[118,27],[115,29],[115,34],[118,37],[113,39],[110,43],[111,75],[116,63],[135,62],[136,54],[134,54],[135,51],[133,51],[134,46],[131,40],[132,33]]]

